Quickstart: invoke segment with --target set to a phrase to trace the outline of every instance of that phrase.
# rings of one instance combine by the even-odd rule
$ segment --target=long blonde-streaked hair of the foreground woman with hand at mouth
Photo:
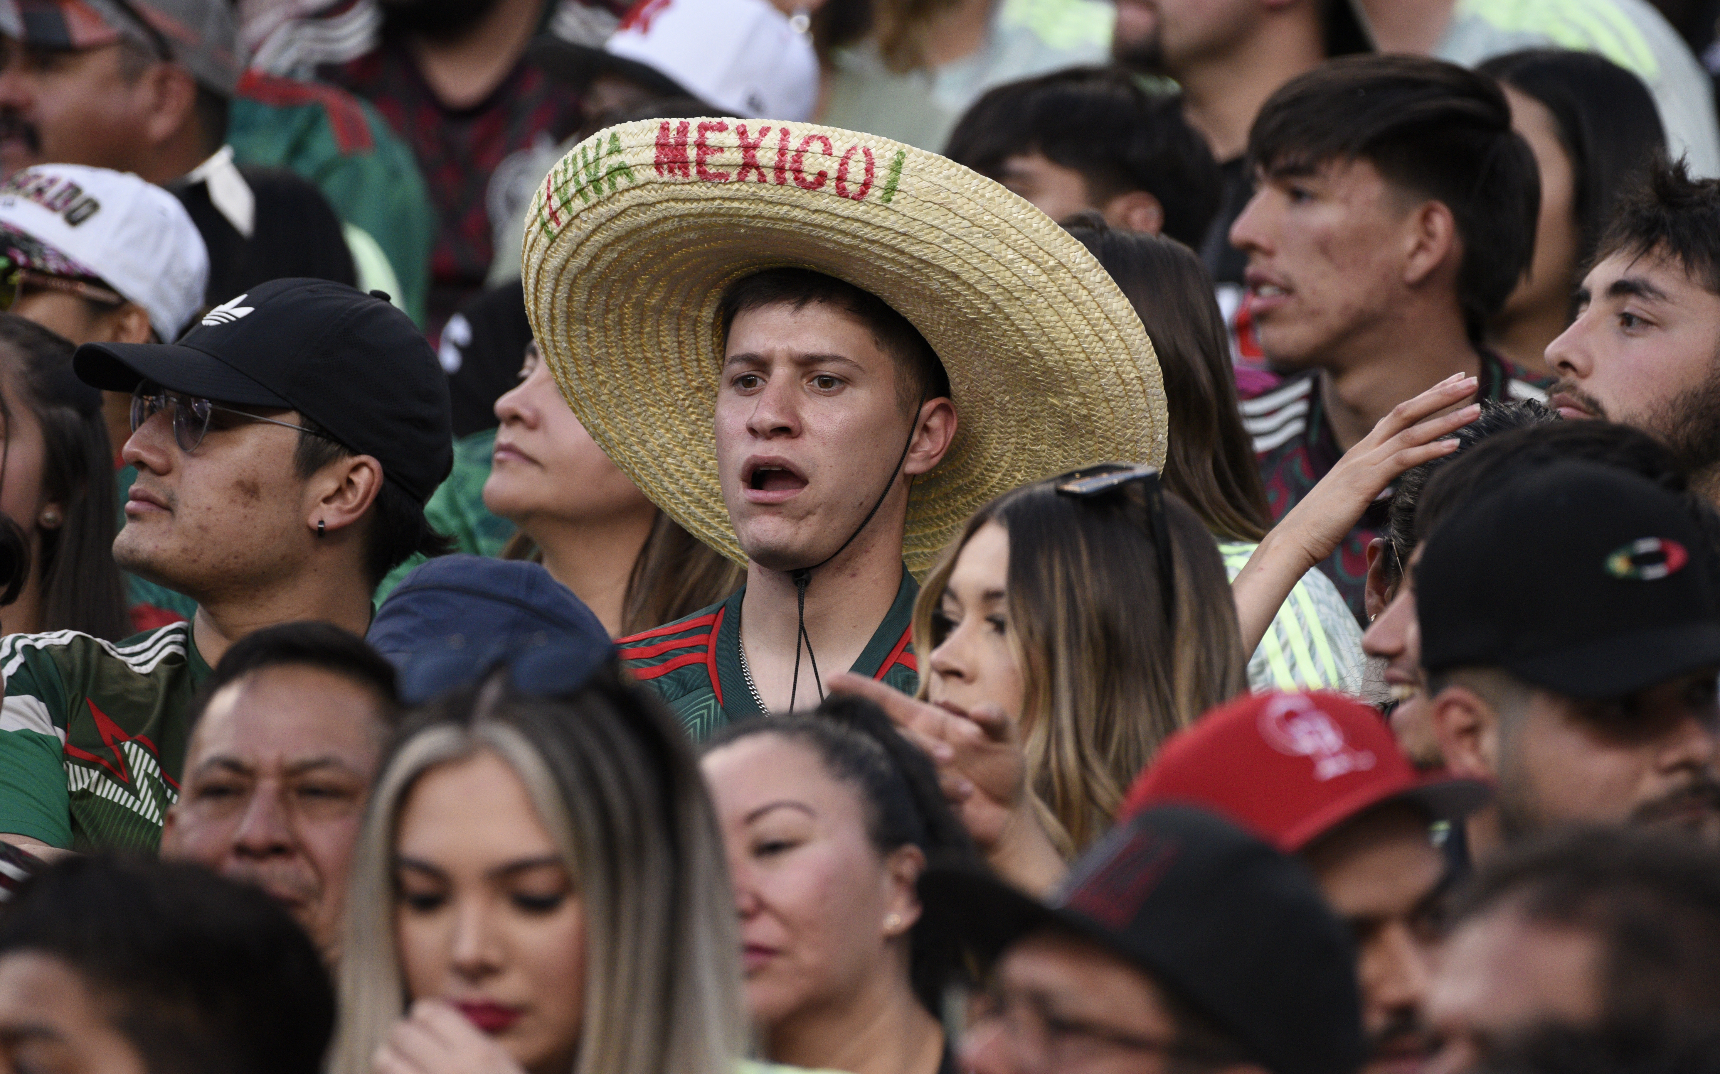
[[[514,770],[585,912],[573,1074],[734,1074],[746,1041],[734,895],[691,748],[654,698],[600,670],[566,699],[497,672],[415,718],[372,794],[353,861],[332,1074],[370,1074],[406,1010],[394,839],[416,780],[488,751]]]

